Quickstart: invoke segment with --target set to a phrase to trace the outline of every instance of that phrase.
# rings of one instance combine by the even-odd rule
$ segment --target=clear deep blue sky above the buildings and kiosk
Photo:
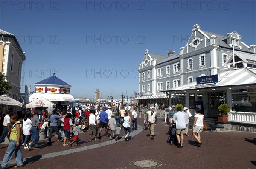
[[[55,72],[74,97],[93,99],[99,88],[102,98],[121,98],[138,92],[145,49],[179,53],[195,23],[256,44],[255,7],[255,0],[0,0],[0,29],[15,34],[26,52],[21,85]]]

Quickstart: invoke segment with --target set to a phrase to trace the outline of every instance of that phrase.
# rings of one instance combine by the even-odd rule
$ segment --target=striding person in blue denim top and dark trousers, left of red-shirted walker
[[[51,130],[50,130],[50,133],[49,133],[49,137],[48,137],[48,141],[47,141],[47,144],[48,146],[51,145],[51,138],[52,138],[52,133],[53,132],[56,132],[56,134],[58,135],[58,139],[60,141],[63,141],[64,139],[61,137],[60,133],[59,133],[59,130],[58,130],[58,120],[62,118],[62,115],[60,113],[60,111],[57,112],[56,109],[53,110],[53,113],[50,117],[50,120],[51,120]]]

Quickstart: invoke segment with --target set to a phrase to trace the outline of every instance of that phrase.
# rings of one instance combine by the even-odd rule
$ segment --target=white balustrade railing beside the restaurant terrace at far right
[[[243,123],[255,123],[255,112],[230,112],[228,113],[228,121],[236,121]]]

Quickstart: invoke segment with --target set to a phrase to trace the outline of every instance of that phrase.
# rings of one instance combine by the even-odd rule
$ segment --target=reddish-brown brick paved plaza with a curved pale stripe
[[[143,130],[143,119],[138,119],[138,130],[131,132],[128,142],[106,138],[105,131],[99,142],[89,142],[88,132],[79,133],[81,146],[62,146],[57,137],[52,146],[40,141],[41,149],[23,149],[24,168],[27,169],[256,169],[256,133],[250,132],[204,132],[203,144],[196,141],[189,130],[183,148],[166,143],[168,126],[159,118],[154,140],[148,130]],[[122,130],[121,135],[123,136]],[[73,138],[71,139],[73,140]],[[7,144],[0,144],[0,161]],[[15,158],[8,168],[15,166]],[[151,160],[151,167],[137,166],[136,161]],[[151,161],[144,161],[150,165]],[[155,161],[155,162],[154,162]]]

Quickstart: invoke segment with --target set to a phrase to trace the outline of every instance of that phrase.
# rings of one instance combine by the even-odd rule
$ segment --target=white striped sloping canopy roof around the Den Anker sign
[[[210,87],[232,87],[236,85],[256,85],[256,70],[250,68],[226,70],[218,75],[218,81],[219,82],[215,84],[212,83],[205,85],[197,85],[196,82],[192,82],[170,90],[164,90],[163,92],[185,91]]]

